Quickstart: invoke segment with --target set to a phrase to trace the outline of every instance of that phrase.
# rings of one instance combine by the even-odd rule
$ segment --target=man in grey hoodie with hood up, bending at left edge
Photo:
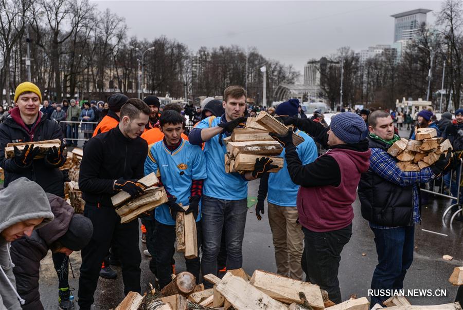
[[[26,178],[16,179],[0,190],[0,205],[0,309],[20,310],[25,301],[16,292],[10,243],[30,236],[34,228],[52,221],[54,215],[42,187]]]

